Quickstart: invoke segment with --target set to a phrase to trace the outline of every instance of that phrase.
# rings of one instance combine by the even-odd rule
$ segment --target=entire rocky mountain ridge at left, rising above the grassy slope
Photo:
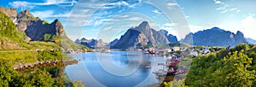
[[[46,20],[41,20],[39,17],[34,17],[29,10],[21,11],[17,14],[16,9],[5,9],[0,7],[0,12],[6,14],[15,23],[15,29],[25,33],[25,40],[29,41],[44,41],[52,42],[62,49],[81,49],[82,47],[67,38],[65,29],[60,20],[54,20],[48,23]]]

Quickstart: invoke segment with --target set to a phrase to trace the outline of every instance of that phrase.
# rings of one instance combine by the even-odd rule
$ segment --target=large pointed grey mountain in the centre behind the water
[[[152,29],[148,21],[143,21],[139,26],[131,27],[121,38],[119,42],[110,48],[112,49],[129,49],[138,46],[152,44],[154,46],[160,44],[169,44],[166,36]]]

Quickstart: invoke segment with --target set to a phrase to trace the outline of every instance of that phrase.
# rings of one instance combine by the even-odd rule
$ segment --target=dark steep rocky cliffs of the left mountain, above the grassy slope
[[[17,28],[21,32],[26,32],[26,41],[44,41],[45,34],[66,36],[64,28],[61,25],[60,20],[55,20],[48,24],[44,20],[33,17],[33,15],[28,11],[21,11],[18,15],[18,25]]]

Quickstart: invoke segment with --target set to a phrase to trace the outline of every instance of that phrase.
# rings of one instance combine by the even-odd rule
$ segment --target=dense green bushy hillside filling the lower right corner
[[[184,84],[189,87],[255,87],[255,52],[254,45],[238,44],[230,50],[221,49],[216,54],[196,56]]]

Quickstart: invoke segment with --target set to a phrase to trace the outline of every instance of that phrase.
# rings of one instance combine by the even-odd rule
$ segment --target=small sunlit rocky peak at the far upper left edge
[[[16,16],[17,16],[17,9],[6,9],[3,7],[0,7],[0,12],[3,12],[3,14],[6,14],[11,18],[11,20],[15,23],[16,22]]]

